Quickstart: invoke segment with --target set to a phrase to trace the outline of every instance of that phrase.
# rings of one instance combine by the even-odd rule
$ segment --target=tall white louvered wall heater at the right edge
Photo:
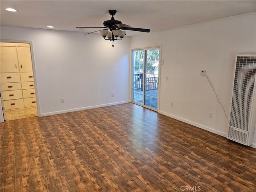
[[[251,121],[255,121],[255,118],[252,117],[255,78],[256,55],[237,55],[228,138],[242,144],[248,144],[248,134],[245,132],[250,132],[250,129],[252,129]],[[246,142],[244,142],[244,139],[246,139]]]

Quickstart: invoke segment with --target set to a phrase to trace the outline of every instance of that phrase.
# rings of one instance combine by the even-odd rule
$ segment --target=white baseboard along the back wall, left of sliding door
[[[107,104],[94,105],[94,106],[88,106],[88,107],[81,107],[81,108],[74,108],[74,109],[68,109],[68,110],[41,113],[40,116],[56,115],[56,114],[81,111],[81,110],[86,110],[86,109],[93,109],[93,108],[106,107],[106,106],[111,106],[111,105],[124,104],[124,103],[129,103],[129,102],[130,101],[121,101],[121,102],[107,103]]]

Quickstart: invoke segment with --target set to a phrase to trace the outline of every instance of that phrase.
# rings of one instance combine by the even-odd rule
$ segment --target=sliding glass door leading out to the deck
[[[132,102],[158,109],[159,48],[132,50]]]

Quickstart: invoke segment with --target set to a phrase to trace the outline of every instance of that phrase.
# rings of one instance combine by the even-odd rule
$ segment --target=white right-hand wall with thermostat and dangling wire
[[[131,48],[162,44],[159,112],[226,136],[228,119],[200,70],[229,117],[235,55],[256,53],[255,23],[249,14],[132,37]]]

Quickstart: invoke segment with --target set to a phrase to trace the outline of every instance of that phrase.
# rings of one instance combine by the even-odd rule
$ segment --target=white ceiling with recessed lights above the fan
[[[256,1],[1,0],[0,8],[0,24],[6,26],[79,32],[77,26],[103,26],[111,18],[108,10],[114,9],[117,10],[114,18],[123,24],[155,32],[255,12]],[[5,8],[18,12],[8,12]],[[54,28],[49,29],[48,25]],[[100,28],[86,29],[84,33],[94,30]],[[142,33],[126,31],[127,36]]]

